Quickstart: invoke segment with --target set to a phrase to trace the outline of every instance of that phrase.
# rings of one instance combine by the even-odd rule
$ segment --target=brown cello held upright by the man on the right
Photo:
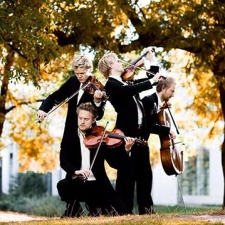
[[[166,103],[166,107],[163,107],[158,112],[158,123],[163,126],[171,126],[170,117],[168,115],[168,112],[166,111],[166,108],[168,109],[170,113],[170,117],[174,123],[174,126],[177,129],[177,126],[175,124],[175,121],[172,117],[172,114],[170,112],[170,109]],[[179,134],[179,131],[177,129],[177,133]],[[160,137],[160,157],[163,169],[167,175],[179,175],[182,174],[184,171],[184,162],[183,162],[183,151],[179,149],[177,146],[178,143],[174,142],[174,139],[170,137],[170,135],[159,135]]]

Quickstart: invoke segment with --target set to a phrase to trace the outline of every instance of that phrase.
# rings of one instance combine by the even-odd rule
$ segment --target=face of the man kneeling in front
[[[78,113],[78,127],[82,132],[89,130],[95,119],[89,111],[80,110]]]

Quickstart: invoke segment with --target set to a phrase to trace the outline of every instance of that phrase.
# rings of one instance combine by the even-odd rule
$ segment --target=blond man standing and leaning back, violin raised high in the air
[[[152,59],[151,51],[146,58]],[[152,88],[150,80],[136,80],[131,84],[124,82],[121,74],[124,68],[115,53],[105,54],[98,63],[99,71],[107,79],[105,90],[109,101],[117,112],[115,127],[126,136],[145,137],[145,115],[139,93]],[[158,77],[153,77],[153,82]],[[151,183],[152,171],[149,163],[148,147],[135,144],[130,152],[128,163],[117,170],[116,192],[133,213],[134,188],[136,183],[139,214],[152,212]]]

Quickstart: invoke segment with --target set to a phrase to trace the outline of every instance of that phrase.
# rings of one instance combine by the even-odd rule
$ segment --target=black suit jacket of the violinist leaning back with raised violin
[[[136,94],[152,88],[148,79],[124,85],[110,77],[105,85],[109,101],[117,112],[116,128],[121,129],[126,136],[137,137],[138,111],[133,98]]]

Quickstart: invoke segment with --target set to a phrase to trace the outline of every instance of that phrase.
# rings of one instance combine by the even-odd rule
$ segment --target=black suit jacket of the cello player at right
[[[168,135],[170,132],[170,127],[160,125],[158,123],[158,97],[156,93],[152,95],[145,96],[142,99],[142,103],[145,110],[146,115],[146,124],[147,124],[147,132],[148,136],[150,133],[158,134],[158,135]]]

